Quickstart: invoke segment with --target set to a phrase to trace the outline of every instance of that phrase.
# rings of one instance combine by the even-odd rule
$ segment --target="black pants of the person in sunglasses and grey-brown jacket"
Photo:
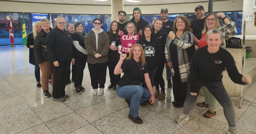
[[[106,66],[107,63],[88,63],[88,69],[90,72],[90,84],[93,89],[105,88],[106,83]],[[100,86],[98,86],[100,84]]]

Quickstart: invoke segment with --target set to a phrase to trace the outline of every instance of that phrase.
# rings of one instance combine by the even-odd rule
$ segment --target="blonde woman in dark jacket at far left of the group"
[[[29,63],[35,65],[35,79],[37,80],[37,87],[41,88],[41,80],[40,80],[40,68],[37,64],[37,60],[35,60],[34,55],[34,39],[35,36],[41,31],[42,26],[40,21],[35,22],[33,26],[33,32],[29,33],[27,36],[27,47],[29,48]]]

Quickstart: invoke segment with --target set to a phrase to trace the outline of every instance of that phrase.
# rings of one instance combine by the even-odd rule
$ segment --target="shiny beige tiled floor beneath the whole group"
[[[76,94],[74,83],[66,86],[70,96],[64,103],[43,98],[37,88],[34,66],[29,64],[28,48],[0,46],[0,134],[1,133],[225,133],[228,125],[221,105],[211,119],[203,117],[207,110],[194,106],[190,120],[175,123],[182,113],[172,106],[172,89],[167,89],[165,100],[154,105],[140,106],[144,123],[137,125],[128,119],[128,105],[113,90],[103,96],[92,96],[88,67],[82,82],[86,91]],[[251,61],[250,61],[251,62]],[[164,78],[166,73],[164,72]],[[166,83],[167,84],[167,83]],[[105,86],[110,85],[109,76]],[[49,85],[52,92],[51,84]],[[256,84],[245,93],[245,98],[256,101]],[[203,101],[199,96],[197,101]],[[241,133],[256,133],[256,105],[247,101],[239,109],[239,99],[231,99]]]

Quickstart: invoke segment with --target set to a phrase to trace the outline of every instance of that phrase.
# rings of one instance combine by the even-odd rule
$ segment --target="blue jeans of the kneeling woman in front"
[[[129,114],[134,117],[139,116],[139,106],[142,102],[150,100],[151,94],[148,88],[138,85],[118,86],[116,85],[116,94],[120,98],[130,100]]]

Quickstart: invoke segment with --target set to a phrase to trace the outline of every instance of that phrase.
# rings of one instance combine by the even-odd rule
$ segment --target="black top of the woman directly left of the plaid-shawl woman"
[[[166,47],[166,38],[168,37],[168,33],[166,33],[166,30],[164,29],[160,29],[160,31],[158,31],[158,33],[154,34],[154,38],[158,38],[158,40],[160,41],[160,44],[162,46],[162,58],[165,60],[164,57],[164,50]]]

